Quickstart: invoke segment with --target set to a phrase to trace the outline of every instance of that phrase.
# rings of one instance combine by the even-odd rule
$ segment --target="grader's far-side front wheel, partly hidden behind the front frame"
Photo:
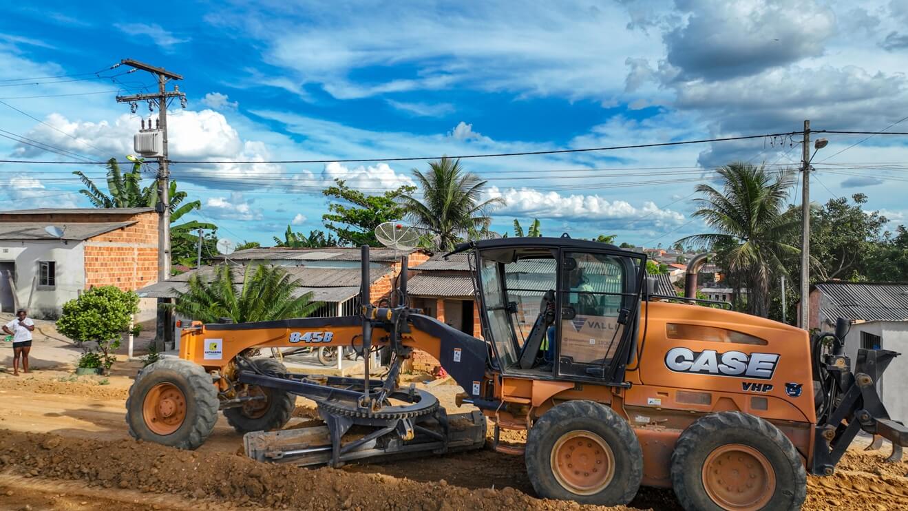
[[[287,368],[276,359],[252,359],[263,373],[284,374]],[[277,388],[250,385],[242,396],[263,396],[264,400],[247,401],[242,407],[224,409],[224,417],[238,433],[281,429],[290,421],[296,408],[296,395]]]

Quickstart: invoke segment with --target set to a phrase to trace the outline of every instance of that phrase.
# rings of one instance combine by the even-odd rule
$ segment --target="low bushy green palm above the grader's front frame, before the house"
[[[301,283],[280,266],[250,265],[239,286],[233,282],[233,270],[231,265],[218,266],[211,281],[192,275],[189,290],[178,293],[174,309],[206,323],[222,318],[242,323],[305,318],[321,306],[311,301],[311,292],[294,296]]]

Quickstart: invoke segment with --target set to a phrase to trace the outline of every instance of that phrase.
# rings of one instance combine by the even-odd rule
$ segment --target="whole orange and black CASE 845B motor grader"
[[[876,392],[897,353],[844,356],[844,321],[807,332],[646,289],[646,256],[593,241],[478,241],[469,251],[484,339],[410,309],[403,259],[396,305],[370,302],[362,248],[361,313],[246,324],[193,323],[181,359],[138,375],[127,401],[133,437],[195,448],[222,409],[248,456],[300,466],[492,447],[522,455],[539,496],[626,504],[641,485],[672,487],[686,509],[795,509],[806,473],[830,475],[859,430],[908,443]],[[682,299],[683,300],[683,299]],[[313,344],[391,353],[375,378],[301,375],[261,349]],[[401,388],[421,349],[464,389],[449,414]],[[296,396],[323,424],[281,430]],[[498,442],[528,430],[525,445]]]

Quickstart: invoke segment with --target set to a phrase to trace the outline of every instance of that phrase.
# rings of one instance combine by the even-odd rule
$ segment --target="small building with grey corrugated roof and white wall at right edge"
[[[844,339],[852,364],[861,348],[904,354],[889,365],[877,389],[890,416],[908,417],[908,283],[821,282],[812,286],[809,312],[811,329],[833,331],[836,319],[853,321]]]

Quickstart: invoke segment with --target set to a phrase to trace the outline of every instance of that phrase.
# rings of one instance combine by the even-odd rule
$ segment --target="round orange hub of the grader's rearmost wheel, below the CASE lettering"
[[[760,509],[775,493],[775,472],[769,460],[753,447],[717,447],[703,464],[706,494],[724,509]]]

